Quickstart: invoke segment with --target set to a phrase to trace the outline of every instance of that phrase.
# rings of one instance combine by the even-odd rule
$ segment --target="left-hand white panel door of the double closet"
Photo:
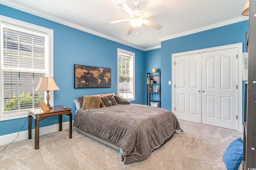
[[[201,54],[175,57],[175,114],[201,123]]]

